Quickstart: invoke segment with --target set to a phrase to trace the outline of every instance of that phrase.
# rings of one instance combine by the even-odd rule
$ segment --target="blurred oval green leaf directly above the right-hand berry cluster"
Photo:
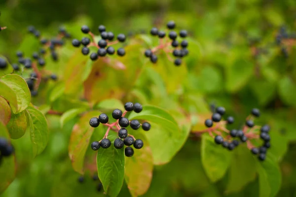
[[[254,65],[247,60],[239,59],[226,69],[226,89],[236,92],[247,84],[253,74]]]

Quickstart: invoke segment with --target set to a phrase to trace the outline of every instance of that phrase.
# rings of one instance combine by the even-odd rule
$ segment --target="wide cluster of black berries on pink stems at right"
[[[222,119],[222,115],[225,114],[225,108],[224,107],[217,107],[216,112],[213,113],[211,119],[207,119],[205,121],[205,125],[208,128],[211,128],[213,126],[213,122],[220,122]],[[260,116],[260,111],[257,108],[252,109],[251,114],[253,117],[259,117]],[[228,116],[226,119],[227,124],[232,124],[234,122],[234,118],[232,116]],[[253,128],[254,127],[254,121],[251,119],[246,120],[245,122],[246,127],[248,128]],[[259,149],[258,148],[252,148],[252,153],[253,154],[259,154],[259,160],[263,161],[265,160],[265,154],[266,150],[270,147],[270,136],[268,134],[269,131],[269,126],[265,125],[261,128],[261,134],[260,137],[261,139],[264,140],[263,146],[261,146]],[[238,139],[233,139],[233,140],[228,140],[224,139],[221,135],[216,135],[215,136],[215,143],[217,144],[222,144],[224,148],[227,148],[228,150],[233,150],[236,146],[240,144],[239,141],[246,142],[248,140],[248,137],[245,135],[245,133],[242,130],[230,130],[229,135],[232,138],[238,138]]]

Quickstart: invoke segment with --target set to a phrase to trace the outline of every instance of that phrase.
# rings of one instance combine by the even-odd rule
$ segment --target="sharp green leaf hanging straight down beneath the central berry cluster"
[[[116,136],[116,133],[111,132],[108,136],[112,142],[111,147],[100,148],[97,154],[98,175],[104,191],[110,197],[116,197],[119,194],[124,179],[124,148],[114,148],[113,141]]]

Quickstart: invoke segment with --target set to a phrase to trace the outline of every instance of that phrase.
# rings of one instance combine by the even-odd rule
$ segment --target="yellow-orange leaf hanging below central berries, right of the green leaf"
[[[153,158],[146,137],[137,132],[134,135],[137,139],[142,139],[144,146],[135,150],[133,157],[125,159],[125,181],[133,197],[142,196],[150,186],[153,171]]]

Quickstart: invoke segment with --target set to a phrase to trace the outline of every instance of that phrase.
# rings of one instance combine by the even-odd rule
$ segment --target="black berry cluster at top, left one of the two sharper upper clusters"
[[[106,27],[103,25],[100,25],[98,27],[99,32],[101,33],[101,38],[98,42],[98,51],[97,53],[93,52],[90,54],[90,59],[95,61],[97,60],[99,57],[105,57],[107,54],[109,55],[113,55],[115,53],[115,49],[112,46],[108,46],[108,41],[112,41],[114,39],[114,33],[112,32],[106,32]],[[83,25],[81,27],[81,31],[83,33],[90,33],[90,29],[88,26]],[[123,33],[120,33],[117,35],[117,40],[119,42],[124,42],[126,40],[126,36]],[[79,47],[80,44],[83,45],[83,48],[81,49],[81,52],[83,55],[88,55],[90,50],[87,47],[89,44],[91,44],[91,40],[88,37],[83,37],[80,40],[78,39],[73,39],[72,40],[72,45],[74,47]],[[107,48],[106,48],[107,47]],[[125,50],[124,48],[118,48],[117,49],[117,55],[118,56],[124,56],[125,55]]]

